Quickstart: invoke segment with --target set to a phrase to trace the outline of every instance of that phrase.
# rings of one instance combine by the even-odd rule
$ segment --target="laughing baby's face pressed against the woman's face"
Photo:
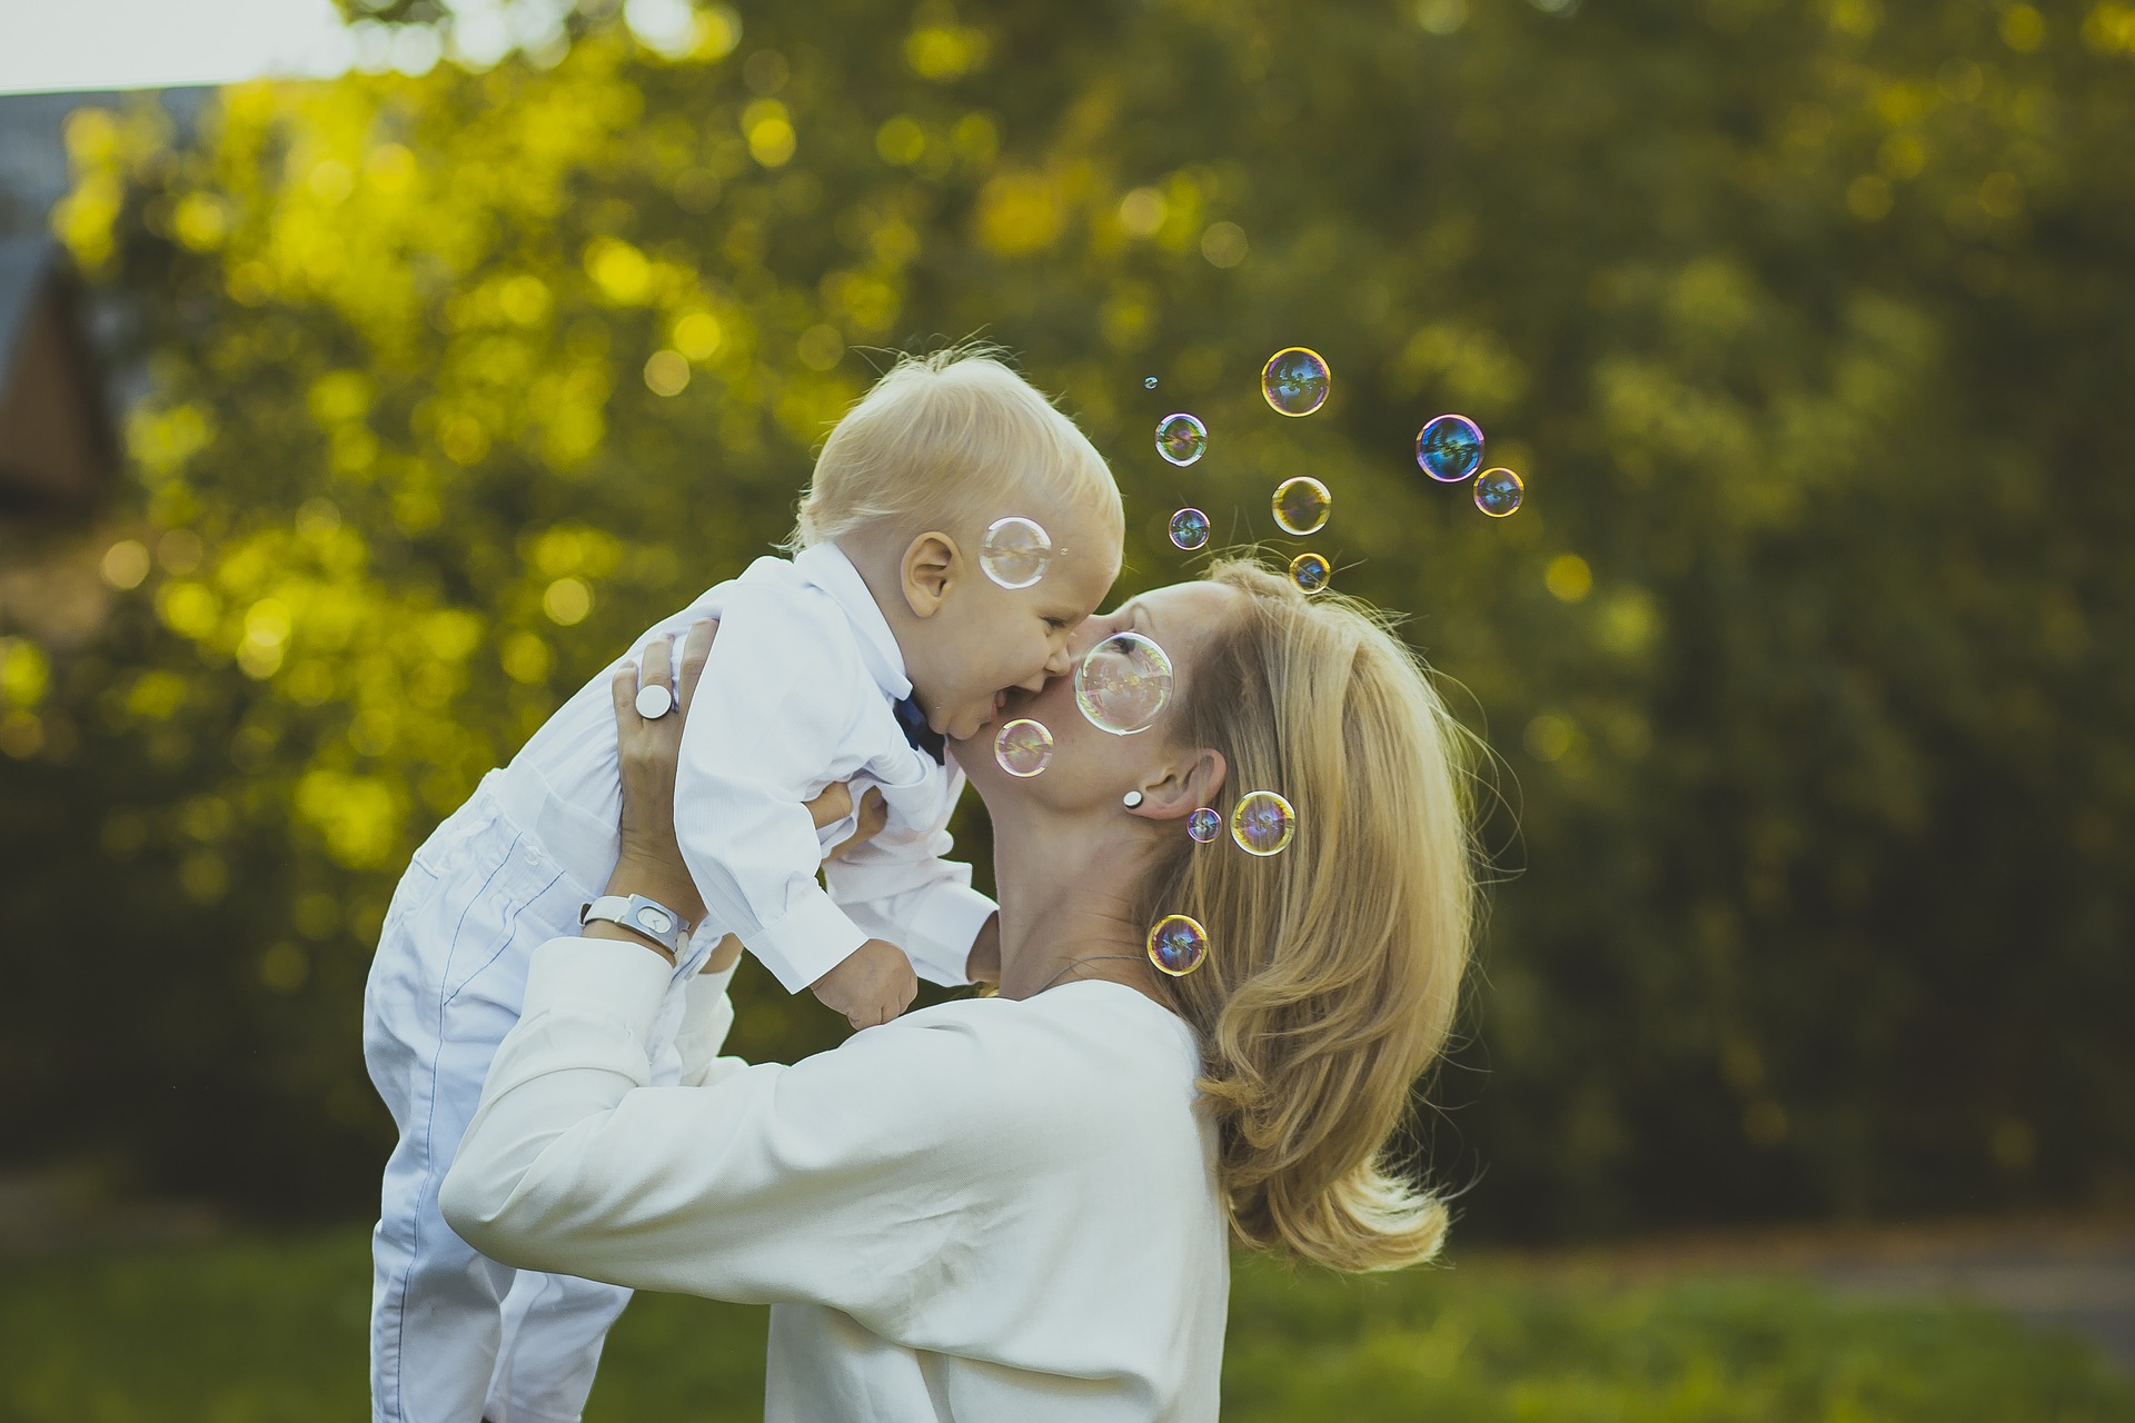
[[[1068,642],[1119,578],[1121,531],[1108,510],[1046,521],[1053,559],[1027,589],[1003,589],[965,548],[948,599],[905,649],[927,723],[950,740],[989,732],[1010,691],[1040,691],[1070,670]]]

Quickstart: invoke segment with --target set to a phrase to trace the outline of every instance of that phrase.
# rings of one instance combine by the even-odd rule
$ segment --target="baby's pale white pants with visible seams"
[[[523,806],[506,789],[491,772],[416,851],[363,990],[363,1060],[399,1129],[371,1231],[374,1423],[576,1423],[630,1301],[619,1284],[500,1265],[438,1214],[489,1060],[519,1022],[527,958],[576,932],[594,896],[523,830],[536,817],[508,813]],[[673,998],[655,1082],[679,1073]]]

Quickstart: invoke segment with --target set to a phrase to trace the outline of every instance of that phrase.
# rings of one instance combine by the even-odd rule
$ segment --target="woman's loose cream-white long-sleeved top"
[[[506,1265],[773,1306],[771,1423],[1202,1421],[1230,1297],[1193,1035],[1121,984],[647,1086],[668,964],[553,939],[442,1186]],[[707,1084],[707,1086],[694,1086]]]

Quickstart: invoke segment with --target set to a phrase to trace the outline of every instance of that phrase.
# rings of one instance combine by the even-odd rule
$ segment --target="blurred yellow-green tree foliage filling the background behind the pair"
[[[77,119],[167,531],[100,642],[6,644],[17,924],[115,941],[0,1009],[13,1139],[367,1199],[410,849],[784,533],[863,348],[984,329],[1112,457],[1129,587],[1185,501],[1287,557],[1311,471],[1503,753],[1527,870],[1433,1090],[1473,1227],[2126,1190],[2135,11],[1556,9],[749,6]],[[1418,476],[1441,410],[1527,508]]]

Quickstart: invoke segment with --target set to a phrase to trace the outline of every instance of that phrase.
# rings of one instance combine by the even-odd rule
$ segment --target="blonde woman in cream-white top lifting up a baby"
[[[1430,1259],[1448,1210],[1386,1154],[1469,954],[1462,732],[1358,606],[1251,563],[1078,640],[1121,629],[1172,659],[1151,732],[1093,728],[1055,678],[1001,710],[1053,730],[1044,774],[956,747],[993,817],[999,947],[971,975],[999,996],[715,1067],[705,975],[694,1086],[649,1088],[664,949],[551,941],[444,1182],[453,1229],[527,1269],[773,1304],[766,1417],[796,1421],[1213,1419],[1228,1233],[1339,1269]],[[608,894],[690,913],[679,728],[636,717],[636,678]],[[1187,836],[1251,789],[1296,806],[1287,849]],[[1170,913],[1208,928],[1185,977],[1146,956]]]

